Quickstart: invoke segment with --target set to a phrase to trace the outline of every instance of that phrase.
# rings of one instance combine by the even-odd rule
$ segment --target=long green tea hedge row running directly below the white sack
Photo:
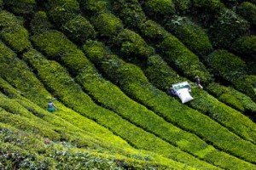
[[[84,49],[86,50],[86,48]],[[204,139],[211,141],[214,145],[217,145],[223,150],[234,150],[236,148],[234,145],[231,148],[229,147],[230,141],[233,141],[233,139],[236,138],[236,142],[239,142],[241,139],[237,138],[236,135],[230,133],[224,127],[219,126],[218,123],[213,122],[207,116],[203,116],[197,111],[193,111],[185,105],[181,105],[177,100],[171,99],[160,90],[154,88],[147,81],[147,78],[143,76],[143,72],[135,65],[125,64],[124,61],[118,59],[115,55],[110,55],[107,59],[100,57],[99,54],[101,53],[95,52],[95,55],[90,57],[92,60],[96,61],[96,65],[101,67],[102,71],[104,71],[113,82],[117,83],[119,87],[122,88],[125,93],[131,95],[132,98],[137,99],[143,103],[143,105],[147,105],[153,111],[165,117],[166,120],[175,122],[178,126],[203,136]],[[98,59],[96,60],[96,58]],[[102,61],[102,59],[104,60]],[[141,78],[138,79],[137,77]],[[213,136],[210,133],[215,132],[214,128],[218,128],[219,133],[215,133],[213,135],[214,138],[212,138]],[[220,133],[221,131],[222,133]],[[227,145],[224,144],[224,140],[229,141]],[[246,141],[239,143],[242,144],[243,142],[247,143]],[[253,147],[253,144],[247,144]],[[249,146],[250,150],[251,146]],[[237,147],[241,147],[241,145],[237,145]],[[245,148],[247,147],[248,146],[245,146]],[[239,150],[236,150],[232,153],[236,155],[238,152]]]

